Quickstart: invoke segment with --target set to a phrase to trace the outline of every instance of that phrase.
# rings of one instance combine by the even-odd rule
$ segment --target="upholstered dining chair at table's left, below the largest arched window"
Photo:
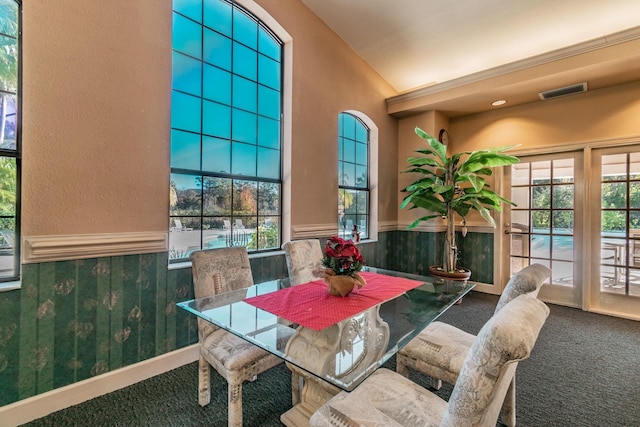
[[[208,249],[191,253],[196,298],[253,285],[247,248]],[[242,426],[242,383],[282,362],[279,357],[198,319],[200,360],[198,403],[211,399],[210,366],[228,383],[229,426]]]

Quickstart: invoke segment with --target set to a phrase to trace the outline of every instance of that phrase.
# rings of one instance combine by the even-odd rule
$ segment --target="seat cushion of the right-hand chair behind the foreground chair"
[[[401,351],[408,367],[455,384],[475,335],[433,322]]]

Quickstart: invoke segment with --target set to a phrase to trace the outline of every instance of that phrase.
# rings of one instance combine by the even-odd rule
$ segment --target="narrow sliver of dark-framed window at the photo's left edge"
[[[0,0],[0,281],[20,272],[20,8]]]

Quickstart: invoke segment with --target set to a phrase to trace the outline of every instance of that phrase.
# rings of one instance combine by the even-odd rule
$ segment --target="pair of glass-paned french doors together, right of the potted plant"
[[[640,145],[519,156],[505,170],[501,282],[551,269],[547,302],[640,320]]]

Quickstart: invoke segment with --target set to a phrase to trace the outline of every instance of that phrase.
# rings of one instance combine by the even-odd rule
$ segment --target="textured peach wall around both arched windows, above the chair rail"
[[[380,220],[397,216],[396,92],[297,0],[259,0],[293,37],[293,225],[337,221],[337,116],[380,131]],[[23,235],[167,230],[171,2],[24,4]]]

